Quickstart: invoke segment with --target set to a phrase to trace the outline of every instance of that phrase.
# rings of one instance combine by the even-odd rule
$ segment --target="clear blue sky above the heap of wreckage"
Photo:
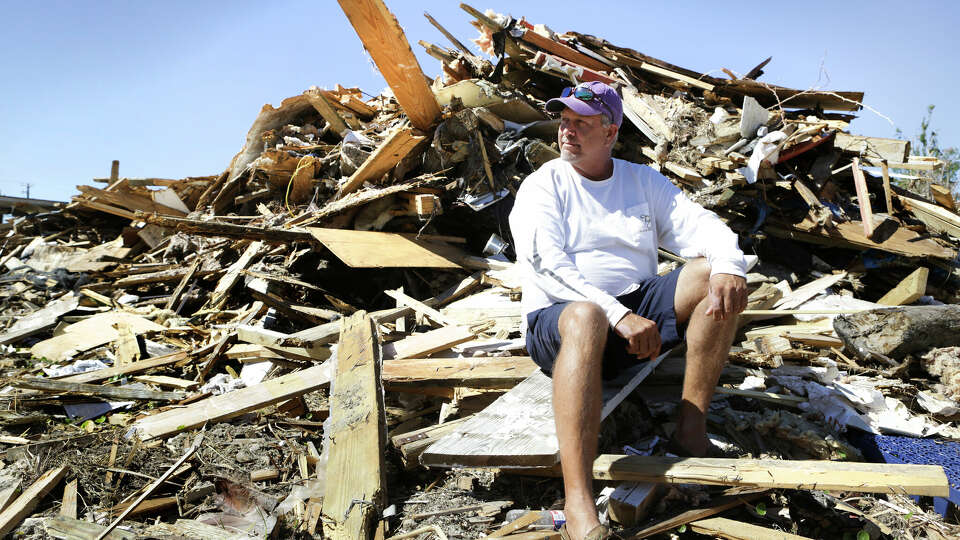
[[[476,37],[455,1],[388,0],[416,44]],[[960,146],[960,2],[524,2],[479,0],[553,30],[574,30],[701,72],[745,73],[794,88],[866,92],[912,136],[926,106],[944,146]],[[265,103],[310,85],[385,83],[339,5],[326,1],[5,2],[0,33],[0,193],[68,200],[110,172],[217,174]],[[866,109],[854,133],[893,137]]]

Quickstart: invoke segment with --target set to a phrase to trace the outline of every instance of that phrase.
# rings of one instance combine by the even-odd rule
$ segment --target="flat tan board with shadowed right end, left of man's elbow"
[[[375,231],[308,228],[352,268],[461,268],[465,253],[449,244]]]

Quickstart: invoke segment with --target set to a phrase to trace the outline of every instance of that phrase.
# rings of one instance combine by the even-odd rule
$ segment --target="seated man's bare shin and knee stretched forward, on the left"
[[[574,302],[560,314],[560,352],[553,365],[553,414],[563,470],[570,538],[600,524],[593,500],[593,461],[600,433],[601,369],[607,339],[600,306]]]

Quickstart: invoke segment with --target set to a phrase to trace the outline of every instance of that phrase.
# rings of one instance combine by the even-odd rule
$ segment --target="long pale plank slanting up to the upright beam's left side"
[[[327,366],[313,366],[254,386],[208,397],[186,407],[148,416],[135,422],[133,428],[144,441],[165,437],[200,427],[208,422],[223,422],[241,414],[262,409],[312,392],[329,382]]]

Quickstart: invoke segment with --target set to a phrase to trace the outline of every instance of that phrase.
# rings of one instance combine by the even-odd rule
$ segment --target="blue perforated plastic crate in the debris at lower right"
[[[940,465],[947,474],[950,496],[933,498],[933,507],[946,517],[947,502],[960,506],[960,443],[942,439],[916,439],[850,430],[847,436],[871,461],[912,465]],[[916,499],[916,497],[914,497]]]

